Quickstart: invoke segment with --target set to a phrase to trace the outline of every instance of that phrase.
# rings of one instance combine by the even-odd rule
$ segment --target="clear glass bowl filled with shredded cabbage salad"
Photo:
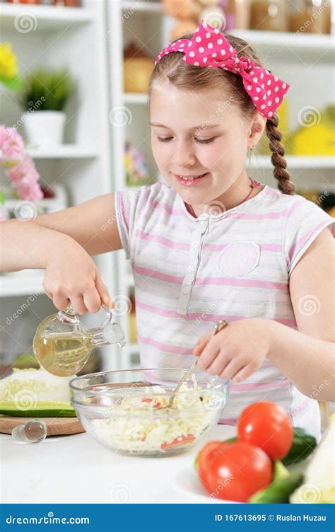
[[[164,408],[186,369],[131,369],[76,377],[71,402],[86,432],[117,453],[165,456],[187,451],[221,417],[228,381],[195,371]],[[195,380],[194,380],[195,378]]]

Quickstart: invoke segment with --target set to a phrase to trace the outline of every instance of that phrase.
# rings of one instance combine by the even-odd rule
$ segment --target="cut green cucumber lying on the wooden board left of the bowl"
[[[37,401],[27,410],[18,408],[14,401],[0,401],[0,414],[15,417],[76,417],[74,408],[70,403],[59,401]]]

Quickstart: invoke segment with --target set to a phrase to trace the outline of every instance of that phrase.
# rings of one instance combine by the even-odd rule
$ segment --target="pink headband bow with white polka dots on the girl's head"
[[[183,52],[184,61],[195,67],[218,67],[243,78],[245,90],[261,115],[271,118],[290,86],[269,70],[257,67],[249,57],[237,57],[223,33],[201,21],[192,39],[180,39],[168,45],[155,59],[155,64],[170,52]]]

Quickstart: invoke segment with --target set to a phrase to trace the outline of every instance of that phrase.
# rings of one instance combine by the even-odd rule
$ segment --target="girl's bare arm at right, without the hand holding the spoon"
[[[297,388],[317,400],[334,400],[334,240],[324,229],[290,276],[298,331],[271,323],[268,359]]]

